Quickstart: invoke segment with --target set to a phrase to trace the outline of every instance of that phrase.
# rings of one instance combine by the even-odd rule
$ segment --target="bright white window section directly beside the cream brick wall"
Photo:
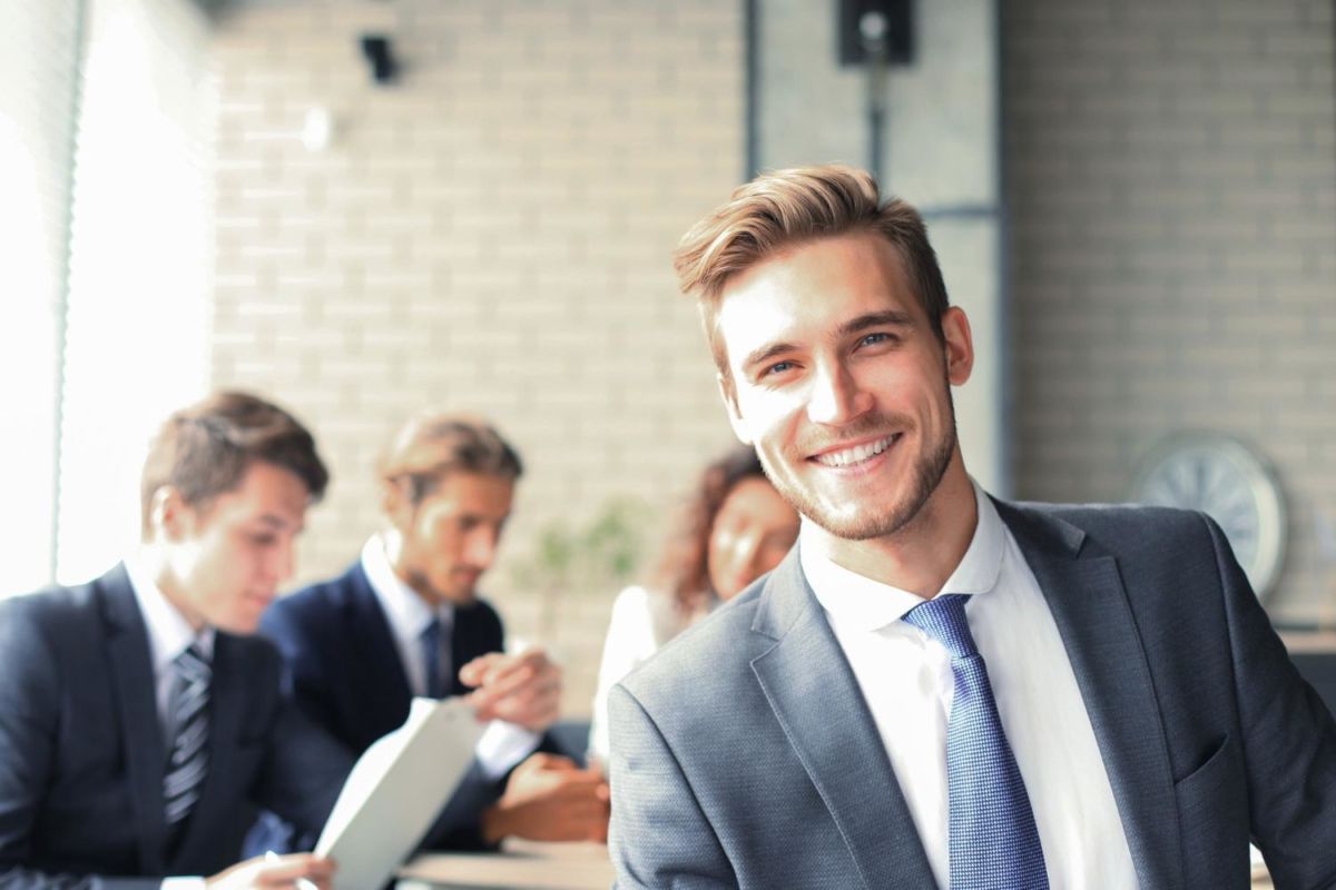
[[[75,133],[56,579],[139,536],[144,444],[207,386],[208,20],[190,0],[87,0]]]

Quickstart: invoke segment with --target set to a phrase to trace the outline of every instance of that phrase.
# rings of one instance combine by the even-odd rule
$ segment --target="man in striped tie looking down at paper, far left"
[[[231,865],[255,805],[319,829],[351,767],[253,636],[327,480],[291,415],[211,396],[154,439],[124,564],[0,603],[0,886],[329,886],[310,855]]]

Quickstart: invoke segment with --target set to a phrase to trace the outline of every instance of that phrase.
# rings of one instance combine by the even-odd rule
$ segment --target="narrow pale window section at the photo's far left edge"
[[[0,595],[41,586],[53,567],[81,5],[0,3]]]

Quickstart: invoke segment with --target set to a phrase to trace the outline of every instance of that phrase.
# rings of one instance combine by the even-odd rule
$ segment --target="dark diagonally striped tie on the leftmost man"
[[[163,778],[167,834],[175,845],[199,799],[208,771],[208,660],[199,647],[176,656],[176,691],[171,707],[172,743]]]

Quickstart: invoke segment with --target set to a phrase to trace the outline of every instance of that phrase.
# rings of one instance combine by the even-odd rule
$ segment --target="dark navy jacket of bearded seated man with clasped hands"
[[[262,630],[283,654],[297,705],[354,754],[361,754],[407,719],[413,694],[390,626],[361,562],[338,578],[275,602],[265,612]],[[450,636],[452,694],[468,691],[458,681],[460,667],[478,655],[502,651],[504,643],[501,619],[488,603],[456,608]],[[474,762],[422,846],[482,846],[480,817],[504,787],[504,782],[489,779]],[[247,843],[250,851],[262,845],[302,849],[314,841],[301,835],[285,841],[283,830],[270,817],[266,823]]]

